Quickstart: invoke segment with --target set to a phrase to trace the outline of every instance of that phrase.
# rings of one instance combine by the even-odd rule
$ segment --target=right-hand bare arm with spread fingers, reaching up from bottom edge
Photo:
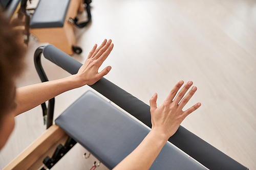
[[[177,94],[183,83],[183,81],[179,81],[170,91],[164,103],[158,108],[156,103],[157,93],[153,95],[150,100],[152,130],[139,146],[123,159],[114,170],[149,169],[168,138],[175,134],[184,118],[201,106],[201,103],[197,103],[186,111],[182,111],[197,90],[197,87],[194,86],[183,98],[193,82],[189,81]]]

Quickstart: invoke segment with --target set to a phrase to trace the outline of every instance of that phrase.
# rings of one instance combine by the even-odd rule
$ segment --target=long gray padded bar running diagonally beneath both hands
[[[43,54],[72,75],[82,66],[53,45],[47,45]],[[150,106],[104,78],[91,87],[151,128]],[[247,169],[182,126],[169,141],[209,169]]]

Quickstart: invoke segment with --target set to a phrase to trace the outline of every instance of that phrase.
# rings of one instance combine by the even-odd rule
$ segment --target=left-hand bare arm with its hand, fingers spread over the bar
[[[17,88],[17,107],[14,114],[18,115],[26,112],[65,91],[78,88],[86,84],[92,85],[96,83],[111,70],[111,66],[107,66],[101,72],[98,72],[99,67],[113,49],[114,45],[111,42],[111,40],[106,42],[105,39],[98,48],[97,44],[95,44],[92,51],[89,53],[87,60],[81,66],[76,75],[72,75],[64,79]]]

